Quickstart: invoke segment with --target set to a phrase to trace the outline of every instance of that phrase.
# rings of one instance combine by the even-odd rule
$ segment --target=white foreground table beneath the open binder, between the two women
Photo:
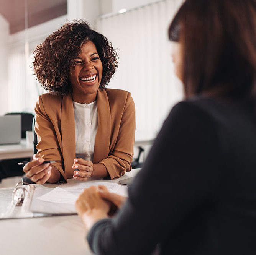
[[[138,172],[133,169],[120,179]],[[3,255],[92,255],[79,216],[5,219],[0,220],[0,229]]]

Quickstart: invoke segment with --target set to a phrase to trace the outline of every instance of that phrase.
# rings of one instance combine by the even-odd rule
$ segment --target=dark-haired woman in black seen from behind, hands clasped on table
[[[182,5],[169,37],[187,99],[167,117],[124,205],[102,187],[80,195],[94,253],[256,254],[255,24],[255,0]],[[111,203],[123,206],[108,218]]]

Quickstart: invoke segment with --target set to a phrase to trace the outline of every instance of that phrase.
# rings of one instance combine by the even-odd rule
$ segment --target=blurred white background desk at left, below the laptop
[[[21,143],[11,145],[0,145],[0,160],[29,158],[33,156],[33,145],[27,145],[26,139],[21,139]]]

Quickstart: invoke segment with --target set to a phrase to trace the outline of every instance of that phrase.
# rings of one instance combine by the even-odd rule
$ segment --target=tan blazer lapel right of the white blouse
[[[95,138],[94,163],[98,163],[108,157],[110,148],[111,115],[108,96],[105,89],[98,89],[98,131]]]

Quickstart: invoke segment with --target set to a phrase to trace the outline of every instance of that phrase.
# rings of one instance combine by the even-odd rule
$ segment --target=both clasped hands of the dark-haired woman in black
[[[123,206],[126,197],[108,192],[105,186],[86,188],[78,197],[75,207],[81,217],[85,229],[91,227],[100,219],[108,218]]]

